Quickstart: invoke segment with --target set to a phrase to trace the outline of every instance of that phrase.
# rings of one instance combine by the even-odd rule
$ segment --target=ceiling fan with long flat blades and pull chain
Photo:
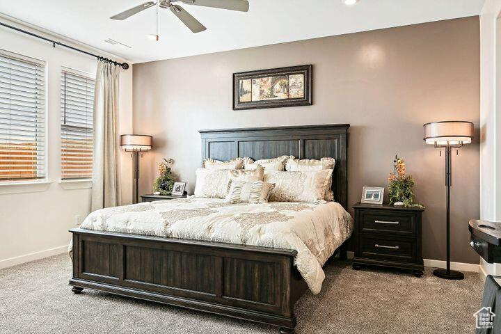
[[[198,22],[198,20],[191,16],[186,10],[184,10],[181,6],[176,5],[175,2],[184,3],[186,5],[195,5],[195,6],[203,6],[203,7],[213,7],[213,8],[222,8],[229,10],[239,10],[241,12],[248,11],[248,1],[246,0],[159,0],[148,1],[143,3],[142,5],[136,6],[134,8],[130,8],[125,10],[117,15],[113,15],[110,19],[127,19],[127,17],[131,17],[134,14],[142,12],[145,9],[153,7],[158,4],[160,8],[168,8],[174,15],[177,16],[186,26],[193,31],[193,33],[200,33],[200,31],[204,31],[205,26]]]

